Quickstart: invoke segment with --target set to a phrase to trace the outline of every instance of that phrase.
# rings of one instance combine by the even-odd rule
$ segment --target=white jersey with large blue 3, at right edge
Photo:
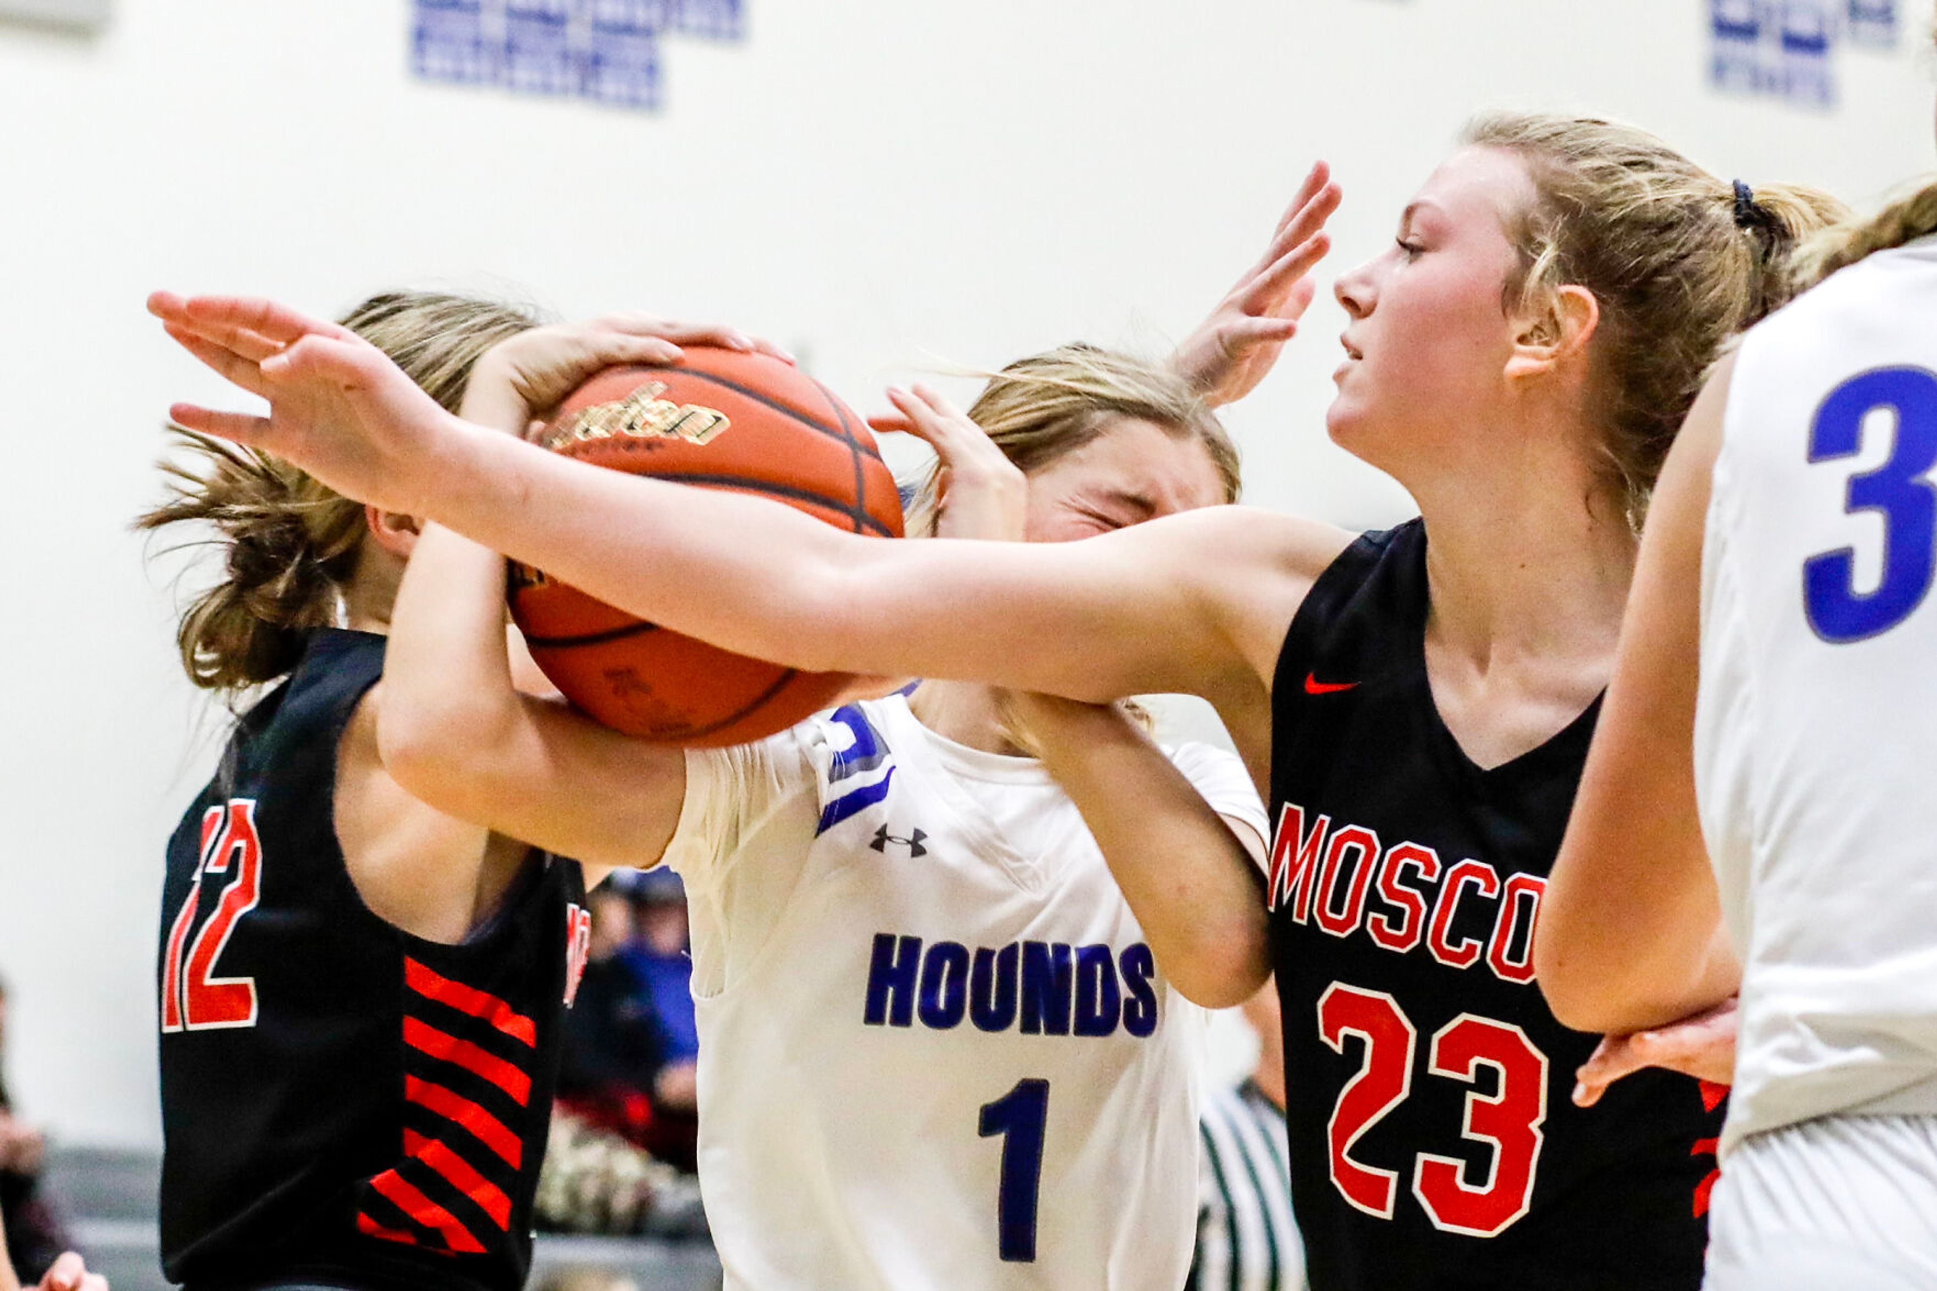
[[[1937,1111],[1937,238],[1741,345],[1703,549],[1695,781],[1743,958],[1722,1151]]]

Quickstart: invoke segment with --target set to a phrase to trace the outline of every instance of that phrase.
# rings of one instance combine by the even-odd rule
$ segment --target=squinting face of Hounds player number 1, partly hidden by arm
[[[1224,502],[1224,481],[1195,436],[1120,417],[1094,440],[1029,477],[1030,543],[1067,543]]]

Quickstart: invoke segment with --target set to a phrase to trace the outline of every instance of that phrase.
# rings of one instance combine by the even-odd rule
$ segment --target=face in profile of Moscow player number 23
[[[1393,244],[1338,279],[1352,322],[1325,425],[1342,448],[1404,481],[1501,407],[1515,343],[1505,287],[1519,271],[1507,229],[1534,196],[1513,155],[1453,153],[1406,205]]]

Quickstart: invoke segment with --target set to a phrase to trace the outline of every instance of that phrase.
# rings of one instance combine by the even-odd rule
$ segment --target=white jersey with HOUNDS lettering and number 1
[[[1172,756],[1263,839],[1234,756]],[[1203,1014],[1042,766],[897,696],[686,770],[728,1291],[1182,1287]]]

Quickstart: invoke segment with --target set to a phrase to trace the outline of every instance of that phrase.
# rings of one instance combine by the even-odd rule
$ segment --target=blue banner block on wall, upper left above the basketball
[[[628,109],[661,107],[661,41],[744,35],[740,0],[415,0],[411,68]]]

